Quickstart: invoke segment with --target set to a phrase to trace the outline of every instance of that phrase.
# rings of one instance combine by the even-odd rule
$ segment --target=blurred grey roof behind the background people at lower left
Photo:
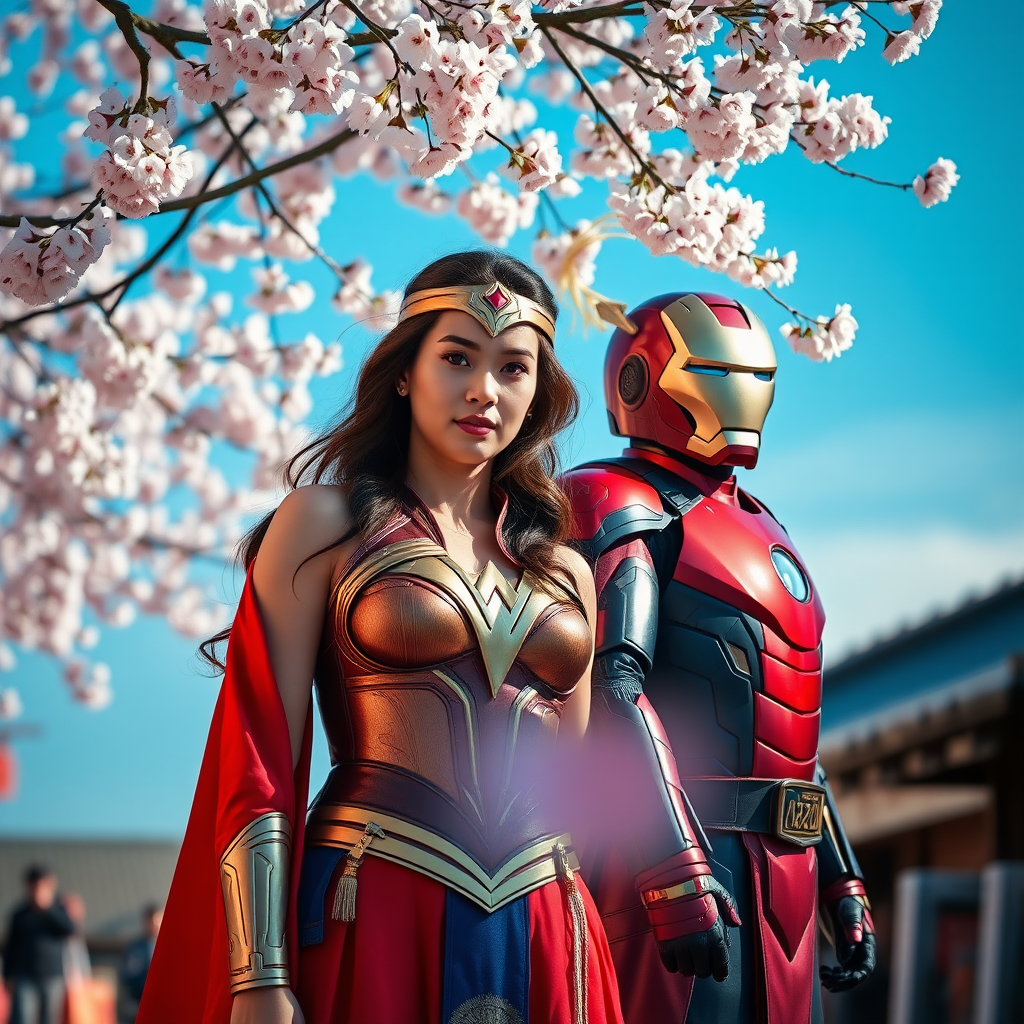
[[[178,848],[171,841],[131,839],[0,840],[0,932],[6,933],[11,908],[24,899],[26,867],[41,863],[56,873],[62,892],[85,900],[90,941],[132,938],[141,908],[167,898]]]

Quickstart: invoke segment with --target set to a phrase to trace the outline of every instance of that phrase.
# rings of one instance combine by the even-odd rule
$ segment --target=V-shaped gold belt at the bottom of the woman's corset
[[[414,825],[384,811],[348,804],[321,804],[309,812],[306,822],[308,846],[333,846],[350,850],[362,838],[371,822],[384,830],[367,849],[370,856],[402,864],[443,883],[493,911],[540,889],[560,877],[561,846],[572,870],[580,861],[568,834],[546,836],[521,847],[489,873],[464,850],[427,828]]]

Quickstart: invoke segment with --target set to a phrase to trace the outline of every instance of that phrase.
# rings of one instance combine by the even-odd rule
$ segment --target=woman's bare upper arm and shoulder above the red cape
[[[270,520],[253,568],[270,666],[288,718],[293,764],[302,745],[331,577],[339,557],[339,548],[316,552],[344,537],[350,526],[348,503],[340,487],[299,487],[285,498]]]

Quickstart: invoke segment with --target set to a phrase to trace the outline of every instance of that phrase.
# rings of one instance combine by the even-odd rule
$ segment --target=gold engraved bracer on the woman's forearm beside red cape
[[[278,812],[261,814],[220,858],[231,992],[288,985],[289,861],[292,829]]]

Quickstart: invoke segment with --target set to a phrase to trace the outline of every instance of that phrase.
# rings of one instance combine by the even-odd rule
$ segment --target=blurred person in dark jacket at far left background
[[[76,925],[57,898],[57,878],[34,864],[25,872],[27,899],[14,908],[3,951],[10,1024],[61,1024],[65,951]]]

